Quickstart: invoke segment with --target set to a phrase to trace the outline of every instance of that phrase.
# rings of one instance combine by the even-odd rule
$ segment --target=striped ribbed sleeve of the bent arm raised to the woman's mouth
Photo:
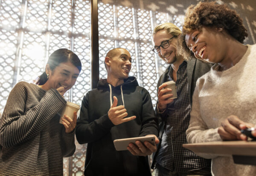
[[[56,89],[34,94],[35,89],[26,82],[19,82],[12,89],[1,118],[0,144],[6,148],[32,139],[60,111],[66,101]],[[41,95],[40,95],[41,94]],[[40,102],[32,108],[33,101]],[[30,97],[28,99],[28,97]],[[25,109],[29,109],[25,111]]]

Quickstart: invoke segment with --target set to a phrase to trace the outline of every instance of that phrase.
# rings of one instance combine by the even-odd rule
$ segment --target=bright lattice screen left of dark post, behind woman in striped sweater
[[[58,48],[82,62],[76,85],[65,99],[81,104],[90,90],[90,0],[0,0],[0,113],[19,81],[32,82]],[[86,145],[64,159],[64,175],[83,175]]]

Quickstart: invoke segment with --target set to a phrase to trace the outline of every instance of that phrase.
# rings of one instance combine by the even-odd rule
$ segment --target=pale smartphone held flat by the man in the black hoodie
[[[114,140],[114,146],[117,151],[120,150],[128,150],[127,147],[130,143],[134,143],[135,141],[140,141],[144,143],[145,141],[150,142],[152,145],[156,145],[154,136],[143,136],[143,137],[133,137],[133,138],[125,138],[125,139],[116,139]]]

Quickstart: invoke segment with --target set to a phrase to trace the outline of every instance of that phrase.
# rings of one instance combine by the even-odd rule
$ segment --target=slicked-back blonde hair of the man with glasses
[[[163,23],[154,28],[153,35],[156,34],[158,31],[166,31],[173,36],[179,36],[181,34],[180,28],[175,26],[173,23]]]

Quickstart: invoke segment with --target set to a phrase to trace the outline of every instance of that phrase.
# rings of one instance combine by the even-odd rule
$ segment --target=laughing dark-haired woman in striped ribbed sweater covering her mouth
[[[63,175],[63,157],[76,150],[76,113],[59,123],[63,95],[80,71],[79,57],[61,48],[50,55],[37,85],[15,85],[0,121],[0,175]]]

